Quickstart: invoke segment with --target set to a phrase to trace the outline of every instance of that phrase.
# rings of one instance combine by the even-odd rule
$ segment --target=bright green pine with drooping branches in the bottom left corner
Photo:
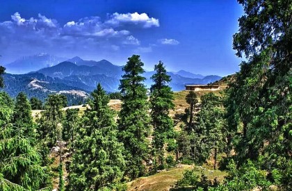
[[[8,94],[0,92],[0,190],[38,190],[47,185],[48,174],[34,140],[26,138],[22,124],[11,124],[13,105]]]

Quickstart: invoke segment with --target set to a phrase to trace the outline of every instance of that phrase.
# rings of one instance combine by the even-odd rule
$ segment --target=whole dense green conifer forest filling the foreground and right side
[[[292,190],[292,1],[238,2],[240,71],[221,94],[188,91],[188,108],[176,119],[165,65],[154,66],[148,96],[138,55],[128,58],[120,92],[111,95],[123,101],[119,112],[100,84],[83,115],[61,110],[67,98],[60,94],[42,106],[23,92],[12,99],[1,91],[0,190],[127,190],[141,176],[207,161],[227,172],[223,180],[193,168],[172,190]]]

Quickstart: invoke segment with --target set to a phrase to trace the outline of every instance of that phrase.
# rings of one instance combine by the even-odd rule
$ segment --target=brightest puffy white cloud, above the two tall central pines
[[[119,26],[120,24],[141,24],[143,28],[150,28],[152,26],[159,26],[159,19],[155,19],[154,17],[149,17],[146,13],[113,13],[110,16],[111,19],[106,21],[107,24],[113,24],[115,26]]]

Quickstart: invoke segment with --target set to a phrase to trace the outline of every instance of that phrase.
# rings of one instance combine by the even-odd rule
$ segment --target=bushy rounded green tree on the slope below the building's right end
[[[225,149],[225,110],[220,97],[208,93],[201,97],[201,109],[197,114],[193,136],[191,138],[193,158],[204,163],[213,151],[214,169],[218,153]]]

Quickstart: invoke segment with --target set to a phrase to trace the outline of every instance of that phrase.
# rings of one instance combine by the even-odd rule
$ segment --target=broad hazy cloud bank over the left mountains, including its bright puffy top
[[[0,22],[0,49],[7,53],[14,51],[15,54],[25,49],[34,53],[46,49],[119,51],[120,46],[140,46],[140,40],[131,34],[133,28],[149,30],[153,27],[159,27],[159,19],[146,13],[113,13],[104,20],[92,16],[65,24],[41,14],[24,18],[14,13],[9,21]]]

